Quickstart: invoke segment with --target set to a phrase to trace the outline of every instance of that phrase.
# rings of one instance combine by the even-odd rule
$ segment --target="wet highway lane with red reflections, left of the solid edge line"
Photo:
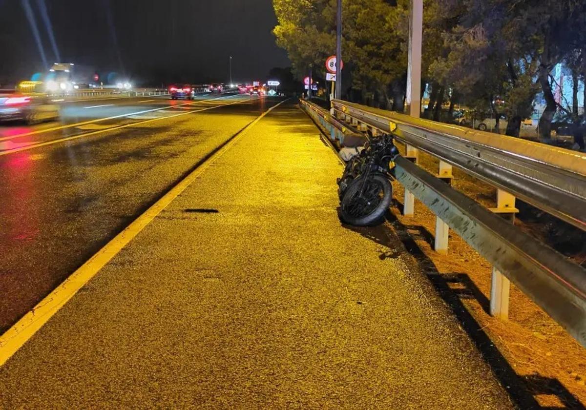
[[[212,98],[149,101],[142,105],[155,111],[91,123],[124,128],[70,127],[3,141],[22,151],[0,151],[0,333],[198,160],[279,101]],[[136,104],[115,108],[134,112]],[[88,110],[104,118],[108,108]],[[79,138],[59,140],[72,133]]]

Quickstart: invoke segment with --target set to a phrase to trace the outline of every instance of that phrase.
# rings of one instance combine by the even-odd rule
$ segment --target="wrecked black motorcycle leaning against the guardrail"
[[[346,163],[338,179],[342,220],[367,226],[379,221],[393,200],[392,170],[398,149],[393,135],[369,137],[364,149]]]

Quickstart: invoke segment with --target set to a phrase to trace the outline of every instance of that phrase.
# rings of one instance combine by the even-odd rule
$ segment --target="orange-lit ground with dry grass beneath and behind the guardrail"
[[[422,155],[420,165],[430,172],[437,170],[438,161]],[[495,206],[495,189],[465,173],[454,170],[453,186],[485,206]],[[394,197],[403,201],[403,187],[395,183]],[[539,405],[553,408],[584,408],[586,403],[586,351],[561,326],[554,322],[535,303],[514,285],[511,288],[509,320],[503,322],[487,313],[490,297],[489,262],[453,232],[449,237],[449,254],[439,255],[432,249],[430,236],[435,229],[435,216],[416,201],[415,216],[403,217],[396,207],[391,210],[398,224],[391,228],[398,235],[409,235],[425,258],[431,259],[439,275],[447,278],[448,286],[461,297],[462,304],[478,326],[488,334],[500,354],[506,358],[515,373]],[[540,237],[539,223],[517,225]],[[423,227],[426,234],[418,234],[413,227]],[[401,232],[402,230],[402,232]],[[542,237],[543,239],[543,237]],[[584,258],[573,255],[578,262]],[[471,283],[450,278],[469,278]],[[466,279],[468,280],[468,279]],[[476,289],[463,289],[466,286]]]

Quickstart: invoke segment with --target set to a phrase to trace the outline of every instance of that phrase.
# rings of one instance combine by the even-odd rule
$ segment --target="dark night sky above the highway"
[[[135,83],[264,78],[289,65],[275,45],[271,0],[0,0],[0,81],[28,78],[43,59],[26,13],[30,5],[47,64],[125,73]]]

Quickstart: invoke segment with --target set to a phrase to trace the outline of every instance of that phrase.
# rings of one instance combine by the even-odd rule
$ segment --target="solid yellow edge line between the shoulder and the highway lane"
[[[286,100],[285,100],[286,101]],[[14,326],[0,336],[0,367],[16,353],[47,321],[65,305],[91,278],[93,278],[115,255],[118,254],[136,235],[138,235],[154,218],[161,213],[176,197],[179,196],[193,181],[197,179],[214,161],[228,151],[236,141],[254,127],[265,115],[277,108],[283,102],[272,106],[263,112],[253,122],[248,124],[240,134],[236,135],[226,145],[216,151],[210,158],[193,170],[188,176],[180,180],[168,193],[155,202],[145,213],[126,227],[113,240],[108,242],[86,263],[73,272],[69,278],[41,300],[35,308],[26,313]]]

